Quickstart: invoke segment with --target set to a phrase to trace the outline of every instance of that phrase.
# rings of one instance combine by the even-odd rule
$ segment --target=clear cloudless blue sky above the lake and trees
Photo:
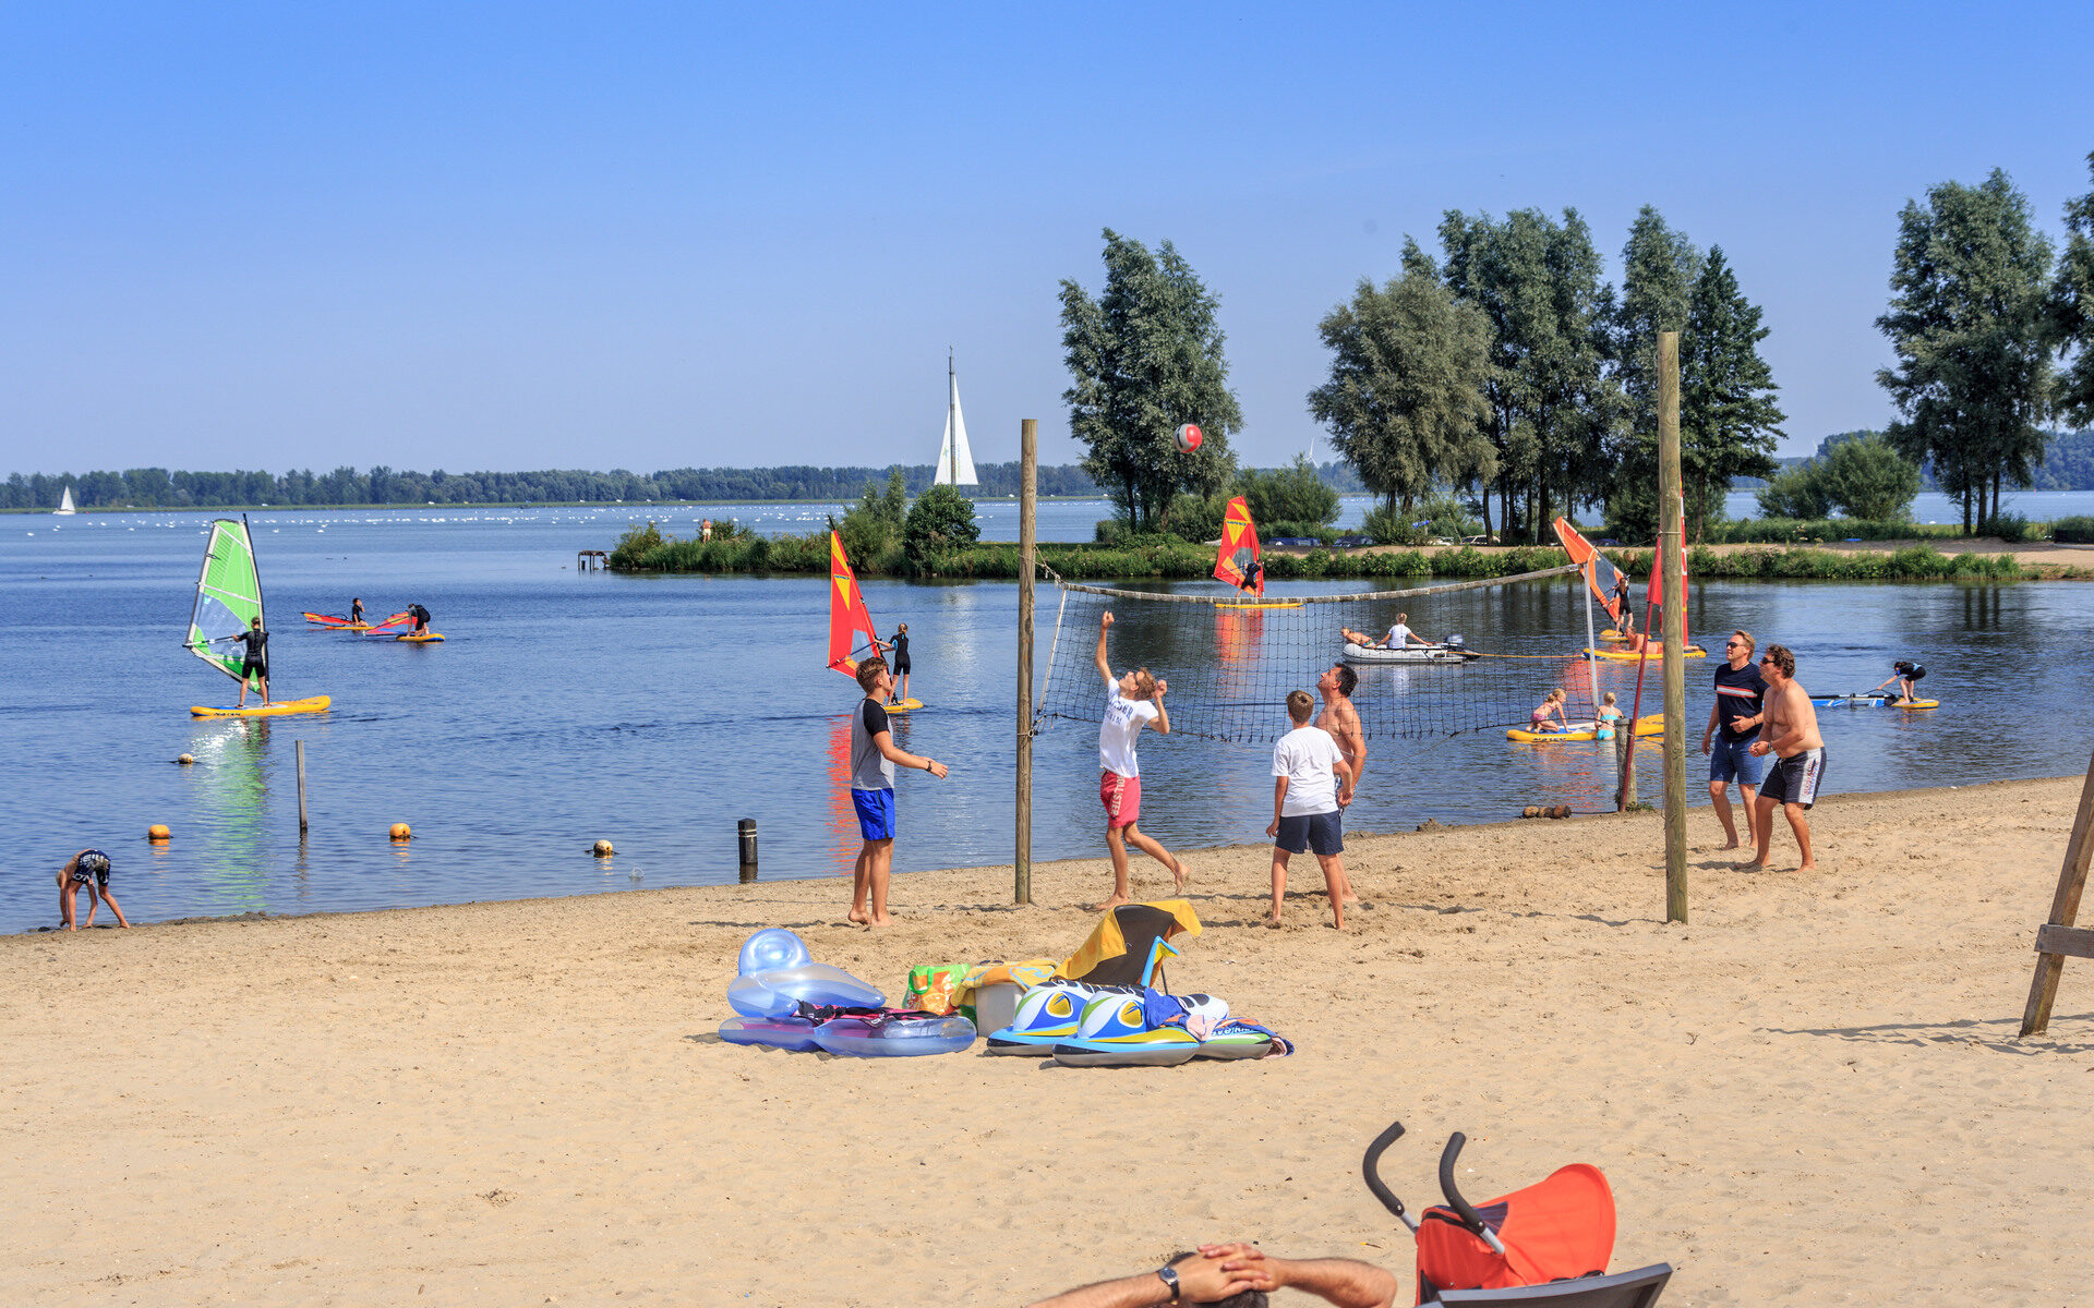
[[[1906,199],[2090,188],[2094,6],[1715,8],[6,6],[0,473],[930,463],[949,345],[976,458],[1066,463],[1106,226],[1271,465],[1407,232],[1575,205],[1612,274],[1644,203],[1805,452],[1889,416]]]

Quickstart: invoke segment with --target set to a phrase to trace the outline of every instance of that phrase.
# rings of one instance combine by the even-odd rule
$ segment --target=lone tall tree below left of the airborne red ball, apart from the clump
[[[1162,525],[1171,496],[1217,492],[1235,471],[1229,433],[1244,414],[1229,391],[1217,299],[1168,241],[1152,255],[1106,228],[1106,291],[1062,280],[1062,349],[1074,385],[1062,391],[1070,435],[1089,448],[1085,473],[1137,532]],[[1198,450],[1177,448],[1198,423]]]

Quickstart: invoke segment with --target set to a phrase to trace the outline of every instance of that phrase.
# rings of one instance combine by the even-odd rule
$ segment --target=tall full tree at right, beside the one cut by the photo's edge
[[[1933,463],[1941,490],[1962,500],[1966,536],[1998,515],[2002,479],[2029,486],[2044,458],[2048,283],[2050,243],[2006,172],[1979,186],[1941,182],[1924,207],[1906,201],[1891,308],[1876,318],[1897,366],[1876,383],[1903,414],[1891,444]]]

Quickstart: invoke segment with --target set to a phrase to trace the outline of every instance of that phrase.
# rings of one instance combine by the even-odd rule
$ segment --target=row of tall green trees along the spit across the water
[[[1960,500],[1968,534],[1998,515],[2002,488],[2037,486],[2054,439],[2042,423],[2094,423],[2094,190],[2065,205],[2065,228],[2052,262],[2027,197],[1998,170],[1910,201],[1876,320],[1897,358],[1876,381],[1899,416],[1885,439],[1841,454],[1836,475],[1790,479],[1784,494],[1883,504],[1916,490],[1924,467]],[[1681,333],[1692,536],[1721,517],[1734,481],[1780,471],[1767,329],[1719,245],[1696,247],[1644,205],[1617,289],[1577,209],[1449,209],[1436,234],[1436,253],[1405,239],[1397,276],[1361,278],[1317,324],[1332,362],[1309,412],[1390,519],[1451,490],[1506,540],[1539,542],[1558,511],[1594,502],[1612,534],[1650,536],[1665,331]],[[1168,241],[1152,253],[1108,228],[1104,243],[1097,297],[1062,283],[1070,429],[1131,529],[1173,529],[1233,477],[1244,419],[1217,297]],[[1181,423],[1204,427],[1198,450],[1171,439]],[[2073,450],[2067,465],[2079,463]]]

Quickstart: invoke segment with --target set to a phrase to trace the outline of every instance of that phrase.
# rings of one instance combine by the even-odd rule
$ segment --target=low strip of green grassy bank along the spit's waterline
[[[1631,576],[1648,576],[1652,550],[1617,550],[1614,561]],[[1148,540],[1139,544],[1043,544],[1039,561],[1068,580],[1145,578],[1200,580],[1212,573],[1215,552],[1208,546]],[[1307,550],[1267,552],[1265,576],[1273,582],[1361,578],[1403,582],[1413,578],[1503,578],[1545,567],[1562,567],[1568,555],[1560,548],[1457,548],[1457,550]],[[674,540],[660,532],[628,532],[611,552],[611,567],[634,573],[827,573],[827,536],[739,536],[735,540]],[[1016,580],[1018,546],[976,544],[963,550],[911,559],[900,546],[890,546],[867,559],[852,559],[861,578],[982,578]],[[2027,573],[2012,555],[1943,555],[1931,544],[1895,552],[1845,552],[1803,546],[1765,546],[1742,550],[1694,548],[1688,571],[1717,580],[1826,580],[1826,582],[1939,582],[1987,580],[2014,582]]]

